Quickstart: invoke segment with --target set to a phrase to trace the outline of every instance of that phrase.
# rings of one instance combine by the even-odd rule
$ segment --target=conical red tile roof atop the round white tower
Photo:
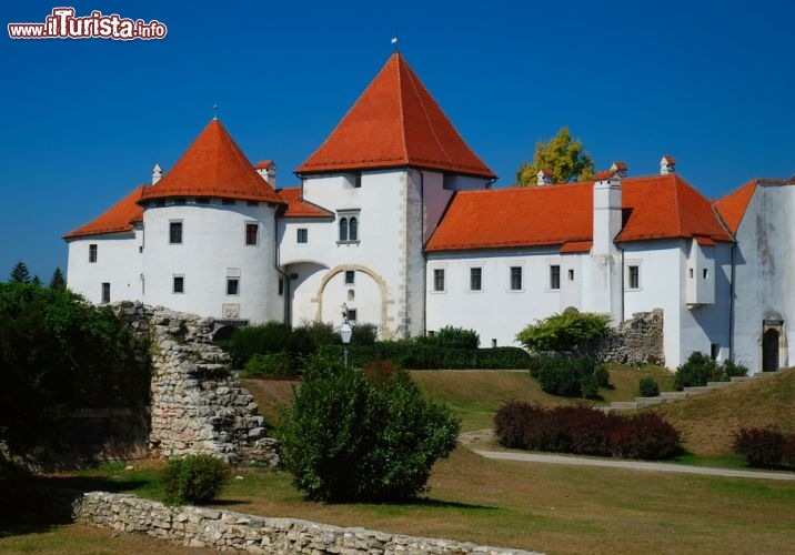
[[[141,201],[171,196],[217,196],[281,203],[220,120],[212,120],[171,171],[148,186]]]

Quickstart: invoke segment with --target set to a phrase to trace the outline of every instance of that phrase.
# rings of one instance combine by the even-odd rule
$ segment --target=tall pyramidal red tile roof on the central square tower
[[[495,178],[400,52],[296,173],[415,167]]]

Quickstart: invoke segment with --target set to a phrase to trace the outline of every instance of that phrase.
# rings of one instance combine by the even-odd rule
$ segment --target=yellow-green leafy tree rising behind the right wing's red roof
[[[588,181],[594,175],[594,162],[583,151],[582,141],[572,140],[564,127],[549,141],[535,143],[533,163],[525,161],[519,167],[514,186],[535,186],[539,170],[551,171],[554,183]]]

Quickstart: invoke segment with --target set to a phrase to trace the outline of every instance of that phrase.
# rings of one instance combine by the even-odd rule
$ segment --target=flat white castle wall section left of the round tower
[[[69,241],[67,284],[94,304],[102,302],[102,283],[110,283],[110,301],[142,299],[142,231],[89,235]],[[97,262],[89,262],[89,245],[97,245]]]

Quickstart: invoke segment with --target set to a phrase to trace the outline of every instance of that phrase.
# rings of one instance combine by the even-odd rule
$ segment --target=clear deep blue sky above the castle
[[[10,6],[17,4],[17,6]],[[49,280],[64,233],[167,171],[220,117],[279,185],[399,47],[509,186],[562,125],[597,169],[677,171],[710,198],[795,173],[795,4],[758,1],[6,2],[158,20],[163,40],[0,38],[0,280]]]

